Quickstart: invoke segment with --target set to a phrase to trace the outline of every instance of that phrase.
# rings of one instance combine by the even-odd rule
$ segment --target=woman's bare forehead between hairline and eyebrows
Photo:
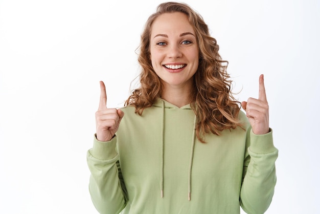
[[[151,37],[158,33],[185,33],[194,34],[194,29],[189,23],[188,16],[181,12],[164,13],[159,15],[151,26]]]

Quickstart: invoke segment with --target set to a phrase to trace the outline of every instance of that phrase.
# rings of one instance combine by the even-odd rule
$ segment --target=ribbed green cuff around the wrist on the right
[[[275,152],[277,148],[273,145],[272,129],[264,135],[256,135],[250,131],[250,151],[256,154],[268,154]]]

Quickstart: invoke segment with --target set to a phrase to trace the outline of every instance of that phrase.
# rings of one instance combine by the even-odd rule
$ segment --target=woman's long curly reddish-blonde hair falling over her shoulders
[[[148,18],[141,35],[138,58],[142,67],[141,86],[132,91],[125,105],[135,106],[135,113],[142,115],[144,109],[152,106],[155,100],[161,97],[163,84],[154,72],[150,58],[151,26],[159,15],[173,12],[186,14],[196,33],[199,66],[193,76],[190,106],[197,118],[196,136],[201,142],[205,142],[205,133],[220,135],[223,130],[236,129],[242,125],[238,119],[241,103],[232,95],[232,81],[226,72],[228,62],[221,59],[216,39],[210,36],[208,25],[204,23],[202,16],[187,4],[162,3]]]

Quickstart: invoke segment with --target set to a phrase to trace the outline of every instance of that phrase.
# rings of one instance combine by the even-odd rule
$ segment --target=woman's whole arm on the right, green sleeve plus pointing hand
[[[242,102],[252,126],[248,130],[240,204],[247,213],[264,213],[269,207],[276,185],[275,162],[278,150],[273,146],[269,128],[269,106],[264,87],[264,76],[259,77],[259,98]]]

